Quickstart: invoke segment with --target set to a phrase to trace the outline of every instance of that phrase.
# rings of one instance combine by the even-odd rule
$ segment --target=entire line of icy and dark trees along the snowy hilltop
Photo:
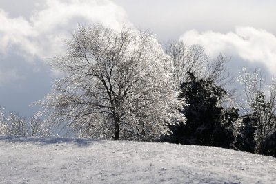
[[[86,138],[276,156],[276,82],[265,93],[261,71],[242,70],[237,80],[244,99],[237,103],[228,57],[210,58],[201,46],[161,46],[150,33],[102,25],[79,26],[66,46],[66,55],[50,63],[63,77],[37,102],[49,125],[66,123]]]

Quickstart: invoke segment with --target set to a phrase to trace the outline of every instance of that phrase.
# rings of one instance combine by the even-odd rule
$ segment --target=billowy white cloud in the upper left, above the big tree
[[[46,60],[63,48],[77,24],[101,23],[114,29],[131,26],[122,8],[108,0],[41,1],[28,19],[0,9],[0,53],[17,52],[27,60]],[[13,49],[13,50],[12,50]]]

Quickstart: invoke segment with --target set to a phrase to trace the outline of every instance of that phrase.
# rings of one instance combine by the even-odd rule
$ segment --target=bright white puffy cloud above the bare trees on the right
[[[226,53],[241,57],[251,64],[264,64],[270,73],[276,73],[276,37],[266,30],[242,26],[226,34],[190,30],[180,39],[188,45],[204,46],[211,56]]]

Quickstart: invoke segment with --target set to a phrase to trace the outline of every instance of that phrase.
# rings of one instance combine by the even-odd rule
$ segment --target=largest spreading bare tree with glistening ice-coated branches
[[[185,121],[170,59],[153,35],[79,26],[66,43],[67,54],[52,61],[66,77],[39,102],[52,122],[66,122],[81,136],[139,140]]]

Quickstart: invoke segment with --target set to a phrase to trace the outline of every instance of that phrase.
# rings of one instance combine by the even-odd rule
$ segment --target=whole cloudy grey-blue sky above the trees
[[[59,76],[48,65],[64,53],[78,24],[149,30],[160,42],[204,46],[242,67],[276,74],[276,1],[273,0],[0,0],[0,106],[32,116]]]

